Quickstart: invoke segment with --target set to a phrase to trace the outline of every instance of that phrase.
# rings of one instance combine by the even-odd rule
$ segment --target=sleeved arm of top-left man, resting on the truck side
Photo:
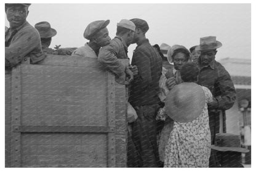
[[[6,66],[12,68],[20,63],[26,55],[38,47],[38,44],[40,44],[38,33],[36,34],[36,32],[30,29],[17,33],[12,44],[5,49]]]

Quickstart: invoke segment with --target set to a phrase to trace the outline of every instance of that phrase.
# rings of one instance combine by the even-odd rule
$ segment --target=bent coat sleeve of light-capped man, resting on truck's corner
[[[100,62],[106,70],[110,70],[118,77],[124,75],[126,67],[118,60],[119,47],[118,44],[109,44],[102,47],[98,54],[98,62]]]

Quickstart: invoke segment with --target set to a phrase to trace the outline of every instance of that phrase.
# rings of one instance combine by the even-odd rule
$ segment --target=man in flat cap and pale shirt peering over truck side
[[[97,20],[87,25],[84,38],[89,42],[74,50],[72,56],[98,58],[100,47],[110,44],[110,36],[106,28],[109,23],[110,20]]]

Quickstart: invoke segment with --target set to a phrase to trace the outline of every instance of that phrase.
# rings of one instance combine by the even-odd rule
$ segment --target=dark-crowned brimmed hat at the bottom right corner
[[[216,133],[214,145],[209,148],[217,151],[236,151],[240,153],[248,153],[249,149],[241,148],[240,135],[232,133]]]

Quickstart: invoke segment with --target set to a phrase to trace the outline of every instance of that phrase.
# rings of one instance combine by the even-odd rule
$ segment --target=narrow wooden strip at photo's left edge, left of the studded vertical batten
[[[5,165],[10,167],[10,123],[11,123],[11,73],[6,71],[5,74]]]

